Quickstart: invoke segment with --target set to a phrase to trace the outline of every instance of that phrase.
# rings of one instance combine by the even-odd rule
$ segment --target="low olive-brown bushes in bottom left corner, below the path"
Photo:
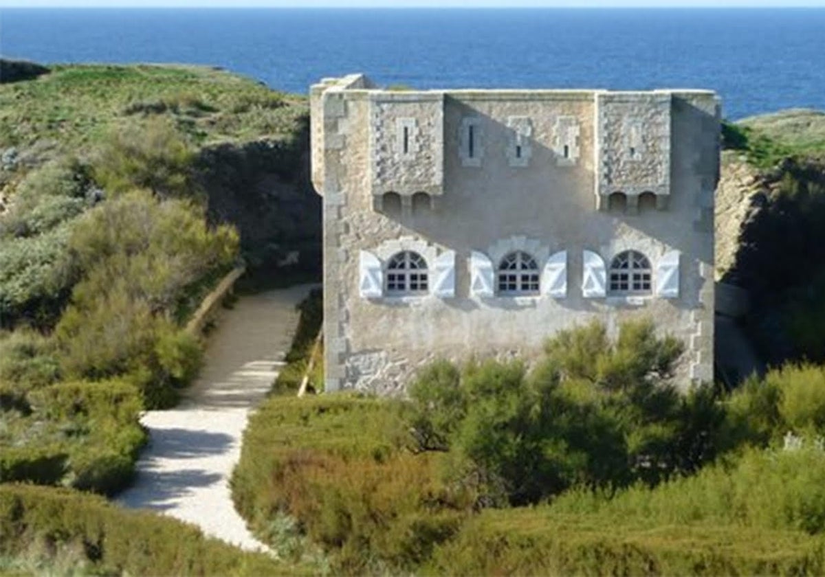
[[[309,575],[297,564],[244,552],[172,518],[128,511],[73,490],[0,486],[0,554],[78,551],[96,575]]]

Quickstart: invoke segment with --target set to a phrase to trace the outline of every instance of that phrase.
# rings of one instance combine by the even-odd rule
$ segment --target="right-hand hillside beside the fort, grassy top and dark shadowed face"
[[[746,327],[769,364],[825,359],[825,114],[787,110],[724,124],[724,147],[757,167],[724,280],[746,288]],[[735,162],[726,156],[727,162]],[[730,232],[723,232],[730,233]]]

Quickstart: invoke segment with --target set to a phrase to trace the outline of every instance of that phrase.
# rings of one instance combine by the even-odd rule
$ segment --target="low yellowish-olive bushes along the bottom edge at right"
[[[422,575],[819,575],[821,537],[731,525],[656,525],[552,508],[488,510]]]

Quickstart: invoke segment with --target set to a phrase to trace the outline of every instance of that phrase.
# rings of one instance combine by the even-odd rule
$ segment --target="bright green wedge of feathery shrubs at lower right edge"
[[[740,525],[766,531],[825,533],[825,453],[809,443],[794,451],[749,448],[695,476],[606,495],[576,490],[554,514],[597,514],[606,524]]]

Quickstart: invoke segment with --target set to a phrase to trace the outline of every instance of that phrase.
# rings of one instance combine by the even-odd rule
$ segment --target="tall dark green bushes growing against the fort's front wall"
[[[425,448],[457,454],[488,499],[535,503],[569,486],[654,484],[715,457],[724,423],[712,392],[680,396],[672,367],[681,345],[649,321],[611,342],[592,323],[561,331],[530,374],[488,360],[462,371],[440,363],[413,383],[413,426]]]

